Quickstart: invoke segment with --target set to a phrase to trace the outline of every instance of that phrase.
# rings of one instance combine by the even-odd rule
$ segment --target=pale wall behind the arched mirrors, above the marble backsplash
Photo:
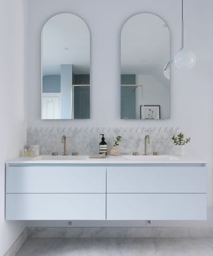
[[[188,155],[208,161],[208,222],[212,225],[213,153],[213,1],[185,0],[185,46],[197,56],[192,71],[171,70],[171,119],[120,120],[120,29],[135,13],[160,15],[170,27],[171,55],[180,48],[180,0],[29,0],[29,127],[169,126],[181,127],[192,142]],[[91,119],[40,120],[40,33],[49,17],[71,12],[91,30]],[[183,177],[184,179],[184,177]],[[190,223],[192,225],[192,223]],[[194,222],[196,225],[196,222]]]

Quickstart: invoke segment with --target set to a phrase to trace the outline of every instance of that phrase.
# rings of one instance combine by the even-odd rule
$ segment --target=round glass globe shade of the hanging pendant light
[[[186,49],[181,49],[174,56],[174,65],[178,69],[192,69],[196,63],[196,55],[193,51],[188,51]]]

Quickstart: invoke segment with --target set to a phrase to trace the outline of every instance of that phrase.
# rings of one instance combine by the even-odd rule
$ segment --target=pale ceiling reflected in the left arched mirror
[[[83,19],[71,13],[51,17],[41,41],[43,76],[59,75],[61,64],[72,64],[74,73],[89,73],[90,33]]]

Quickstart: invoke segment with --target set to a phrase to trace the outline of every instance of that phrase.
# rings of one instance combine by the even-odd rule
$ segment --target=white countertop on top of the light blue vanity
[[[6,161],[7,164],[158,164],[158,163],[191,163],[206,164],[206,161],[175,155],[107,155],[105,158],[90,158],[89,155],[19,157]]]

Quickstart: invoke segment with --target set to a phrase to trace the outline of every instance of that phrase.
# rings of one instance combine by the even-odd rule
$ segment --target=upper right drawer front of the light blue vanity
[[[206,193],[206,167],[109,167],[107,193]]]

